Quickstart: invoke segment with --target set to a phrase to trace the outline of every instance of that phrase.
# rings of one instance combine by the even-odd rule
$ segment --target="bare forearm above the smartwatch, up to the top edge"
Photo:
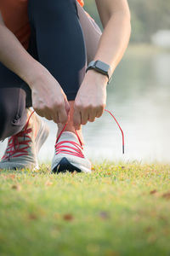
[[[108,63],[112,72],[127,49],[131,33],[130,12],[126,0],[96,0],[104,32],[95,60]]]

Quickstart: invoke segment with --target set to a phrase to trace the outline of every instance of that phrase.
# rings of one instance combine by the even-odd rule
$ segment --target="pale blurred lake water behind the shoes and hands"
[[[108,113],[83,127],[86,153],[91,160],[140,160],[169,162],[170,54],[136,54],[127,51],[107,90],[107,109],[118,119],[122,136]],[[54,154],[56,125],[48,122],[50,136],[39,160]],[[6,142],[0,144],[0,155]]]

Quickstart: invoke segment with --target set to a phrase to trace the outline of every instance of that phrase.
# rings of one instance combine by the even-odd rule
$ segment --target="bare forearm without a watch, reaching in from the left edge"
[[[0,61],[31,86],[31,80],[45,70],[31,57],[19,40],[0,23]]]

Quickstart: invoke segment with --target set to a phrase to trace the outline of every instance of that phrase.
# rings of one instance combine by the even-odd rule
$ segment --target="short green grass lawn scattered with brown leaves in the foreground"
[[[0,255],[170,255],[170,166],[0,172]]]

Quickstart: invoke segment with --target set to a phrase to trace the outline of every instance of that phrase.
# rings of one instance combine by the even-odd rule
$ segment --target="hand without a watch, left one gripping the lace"
[[[57,124],[65,124],[70,106],[64,91],[54,77],[47,70],[43,70],[43,73],[32,79],[29,85],[32,107],[37,114],[48,120],[54,120]]]

